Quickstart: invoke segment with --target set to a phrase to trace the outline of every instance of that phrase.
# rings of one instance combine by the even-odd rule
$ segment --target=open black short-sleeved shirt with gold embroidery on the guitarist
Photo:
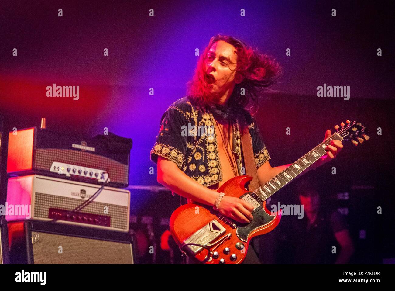
[[[254,117],[245,110],[245,118],[249,125],[254,160],[258,169],[270,159],[270,156]],[[214,124],[213,114],[193,105],[188,97],[175,101],[162,116],[156,142],[150,151],[150,159],[158,163],[158,156],[161,156],[173,161],[186,175],[206,187],[222,181]],[[243,173],[238,120],[233,130],[235,152],[239,156],[238,170],[239,173]]]

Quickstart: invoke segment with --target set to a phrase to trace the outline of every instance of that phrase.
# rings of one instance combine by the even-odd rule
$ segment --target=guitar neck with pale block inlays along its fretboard
[[[332,140],[343,140],[343,138],[337,133],[332,134],[329,136],[329,138],[324,140],[324,142],[314,147],[314,149],[292,163],[288,168],[269,180],[266,184],[256,189],[254,194],[260,197],[262,201],[269,198],[294,178],[299,176],[301,172],[310,167],[315,161],[320,159],[320,157],[325,155],[325,148],[331,143]]]

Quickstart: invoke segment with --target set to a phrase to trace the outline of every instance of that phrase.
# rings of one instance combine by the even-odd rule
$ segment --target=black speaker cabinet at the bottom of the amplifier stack
[[[8,222],[8,232],[13,264],[138,264],[131,232],[31,220]]]

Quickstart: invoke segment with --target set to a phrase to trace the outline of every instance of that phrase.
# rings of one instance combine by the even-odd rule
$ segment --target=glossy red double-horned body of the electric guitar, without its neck
[[[251,176],[238,176],[226,181],[217,192],[227,196],[246,198],[251,192],[245,189],[245,184],[251,181]],[[238,223],[218,211],[212,206],[201,203],[189,203],[177,208],[170,217],[170,231],[180,248],[197,263],[238,264],[243,262],[248,251],[248,244],[254,236],[265,234],[275,229],[280,222],[281,210],[272,215],[266,208],[266,201],[260,204],[252,215],[250,223]],[[183,246],[192,243],[208,247],[212,256],[207,257],[209,251],[196,245]],[[225,248],[226,249],[224,251]],[[192,249],[192,250],[191,250]],[[218,253],[216,257],[214,252]],[[227,253],[228,252],[228,253]],[[235,256],[233,255],[235,254]],[[233,257],[231,257],[233,255]]]

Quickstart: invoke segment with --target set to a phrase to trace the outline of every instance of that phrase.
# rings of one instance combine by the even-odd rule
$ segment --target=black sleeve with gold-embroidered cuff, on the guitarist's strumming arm
[[[169,107],[162,115],[158,136],[150,152],[151,161],[157,164],[158,156],[161,156],[176,163],[182,170],[188,136],[184,127],[187,127],[184,115],[177,108]]]

